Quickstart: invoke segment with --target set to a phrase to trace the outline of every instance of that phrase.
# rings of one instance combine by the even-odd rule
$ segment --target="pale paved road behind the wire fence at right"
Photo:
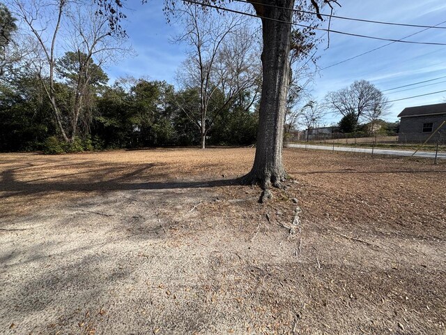
[[[314,144],[286,144],[289,148],[302,148],[302,149],[316,149],[316,150],[333,150],[333,147],[327,145],[314,145]],[[362,152],[364,154],[371,154],[371,148],[353,148],[353,147],[334,147],[334,151],[346,151],[346,152]],[[394,155],[394,156],[412,156],[413,150],[391,150],[391,149],[374,149],[374,154],[377,155]],[[414,157],[435,158],[435,152],[431,151],[418,151]],[[446,158],[446,152],[438,152],[438,158]]]

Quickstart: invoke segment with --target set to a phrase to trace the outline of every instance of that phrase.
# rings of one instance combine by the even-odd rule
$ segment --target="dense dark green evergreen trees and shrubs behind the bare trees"
[[[101,71],[104,79],[105,73]],[[69,113],[75,98],[68,83],[55,85],[55,96],[63,101],[61,115]],[[242,103],[249,95],[241,98]],[[178,107],[181,101],[186,107]],[[36,75],[15,77],[0,86],[0,150],[64,151],[118,149],[153,146],[187,146],[201,142],[200,129],[187,115],[187,108],[199,105],[196,88],[176,91],[171,84],[136,78],[117,80],[112,85],[94,82],[88,102],[77,121],[77,135],[63,140],[54,119],[51,102]],[[237,102],[215,115],[207,136],[208,144],[245,145],[256,139],[257,114]]]

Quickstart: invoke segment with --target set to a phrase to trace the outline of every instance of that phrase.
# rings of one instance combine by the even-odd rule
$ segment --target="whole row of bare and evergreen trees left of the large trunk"
[[[256,141],[259,45],[245,20],[208,20],[187,6],[187,34],[178,41],[188,49],[177,87],[146,77],[108,84],[103,66],[132,52],[123,36],[95,15],[94,6],[79,10],[56,1],[42,12],[43,2],[13,1],[13,13],[0,7],[0,151],[56,154]],[[54,24],[38,28],[36,17]],[[19,19],[24,31],[17,29]]]

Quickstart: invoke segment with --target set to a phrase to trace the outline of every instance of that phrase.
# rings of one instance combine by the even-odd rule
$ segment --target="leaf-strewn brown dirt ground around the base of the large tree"
[[[0,333],[446,334],[446,162],[253,159],[1,154]]]

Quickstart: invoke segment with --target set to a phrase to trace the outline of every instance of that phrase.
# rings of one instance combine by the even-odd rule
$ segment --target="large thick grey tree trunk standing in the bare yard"
[[[264,3],[277,7],[253,4],[257,15],[291,22],[294,0],[270,0]],[[263,83],[256,156],[251,172],[243,178],[246,183],[260,184],[262,188],[269,188],[271,184],[279,187],[286,177],[282,164],[282,144],[289,84],[291,24],[273,20],[262,19]]]

